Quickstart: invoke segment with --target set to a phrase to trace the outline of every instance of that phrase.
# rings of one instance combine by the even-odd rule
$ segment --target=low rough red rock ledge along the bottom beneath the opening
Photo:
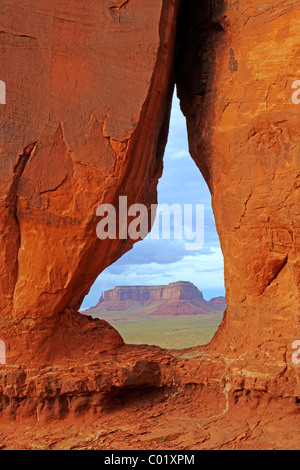
[[[96,362],[11,368],[0,377],[0,447],[298,449],[284,377],[243,376],[240,365],[205,348],[126,345]]]

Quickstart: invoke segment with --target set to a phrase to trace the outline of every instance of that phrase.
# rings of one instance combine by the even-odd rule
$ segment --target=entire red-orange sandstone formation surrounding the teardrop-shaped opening
[[[299,448],[299,2],[182,2],[176,81],[228,308],[181,352],[77,313],[130,248],[96,238],[96,207],[156,201],[179,2],[18,3],[0,6],[1,448]]]

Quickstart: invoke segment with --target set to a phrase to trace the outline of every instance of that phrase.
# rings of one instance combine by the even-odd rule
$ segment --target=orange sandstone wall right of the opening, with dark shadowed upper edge
[[[225,260],[228,309],[211,348],[247,355],[248,370],[282,365],[297,394],[300,5],[191,1],[185,13],[179,96]]]

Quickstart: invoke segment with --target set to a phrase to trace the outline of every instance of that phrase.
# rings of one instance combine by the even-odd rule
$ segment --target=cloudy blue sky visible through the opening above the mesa
[[[103,271],[85,298],[82,308],[95,305],[101,292],[120,285],[164,285],[191,281],[207,300],[225,294],[223,255],[215,228],[211,197],[200,171],[188,153],[185,119],[176,97],[164,157],[164,172],[158,186],[158,202],[169,206],[180,204],[181,207],[192,204],[192,223],[189,225],[187,220],[185,226],[187,238],[174,239],[171,231],[170,240],[157,240],[153,239],[153,234],[151,238],[150,233]],[[197,204],[204,206],[204,244],[192,245],[191,250],[187,249],[191,232],[195,232],[197,227],[197,233],[201,233],[201,217],[196,215]]]

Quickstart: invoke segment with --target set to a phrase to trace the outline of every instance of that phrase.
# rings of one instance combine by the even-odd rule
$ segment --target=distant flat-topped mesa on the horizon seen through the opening
[[[95,307],[85,311],[106,318],[109,312],[133,312],[138,315],[184,316],[224,312],[226,300],[207,302],[191,282],[172,282],[167,286],[118,286],[104,292]]]

